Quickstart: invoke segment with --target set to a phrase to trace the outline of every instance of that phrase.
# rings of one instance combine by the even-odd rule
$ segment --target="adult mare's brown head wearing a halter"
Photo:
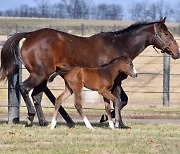
[[[154,24],[153,45],[160,49],[162,53],[166,52],[173,59],[178,59],[180,58],[179,45],[166,27],[165,21],[166,18],[160,19],[159,22]]]

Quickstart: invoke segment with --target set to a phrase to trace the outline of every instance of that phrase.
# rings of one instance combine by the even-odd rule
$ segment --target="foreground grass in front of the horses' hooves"
[[[34,125],[0,125],[0,153],[136,153],[179,154],[179,125],[130,124],[131,130],[110,130],[107,125],[69,128],[58,124],[54,130]]]

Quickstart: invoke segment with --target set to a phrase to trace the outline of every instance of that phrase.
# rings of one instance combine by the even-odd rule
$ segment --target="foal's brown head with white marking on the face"
[[[122,59],[121,64],[122,64],[122,71],[124,73],[126,73],[127,75],[130,75],[133,78],[137,77],[137,71],[132,63],[132,59],[124,58]]]

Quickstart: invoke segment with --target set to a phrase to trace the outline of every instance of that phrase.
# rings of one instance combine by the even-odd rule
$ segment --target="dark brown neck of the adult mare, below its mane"
[[[143,28],[114,36],[116,48],[120,53],[129,56],[131,59],[137,57],[147,46],[151,45],[150,41],[153,33],[154,25],[145,25]]]

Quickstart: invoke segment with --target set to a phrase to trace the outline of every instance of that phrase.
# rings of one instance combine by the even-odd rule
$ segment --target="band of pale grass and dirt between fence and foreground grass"
[[[53,108],[45,108],[44,114],[46,120],[50,123]],[[75,123],[82,123],[82,119],[77,113],[76,109],[65,108],[67,113],[73,119]],[[97,124],[101,118],[101,115],[105,113],[102,109],[84,109],[84,112],[91,123]],[[24,122],[27,117],[26,108],[20,110],[20,121]],[[180,108],[143,108],[143,109],[124,109],[122,110],[122,118],[124,123],[132,124],[177,124],[180,125]],[[0,121],[8,121],[7,108],[0,110]],[[35,116],[35,123],[38,123],[37,116]],[[58,123],[66,123],[62,116],[58,115]],[[106,122],[107,123],[107,122]]]

